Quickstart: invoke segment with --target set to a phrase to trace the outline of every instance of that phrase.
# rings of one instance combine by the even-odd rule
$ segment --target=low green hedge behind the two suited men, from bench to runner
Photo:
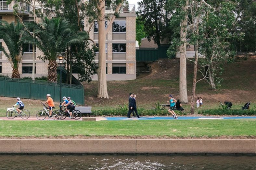
[[[140,116],[168,116],[170,113],[167,110],[156,110],[156,109],[144,109],[138,108],[138,114]],[[92,110],[93,116],[127,116],[128,110],[114,108],[114,109],[100,109],[100,110]],[[185,111],[177,111],[175,110],[177,115],[186,115]]]

